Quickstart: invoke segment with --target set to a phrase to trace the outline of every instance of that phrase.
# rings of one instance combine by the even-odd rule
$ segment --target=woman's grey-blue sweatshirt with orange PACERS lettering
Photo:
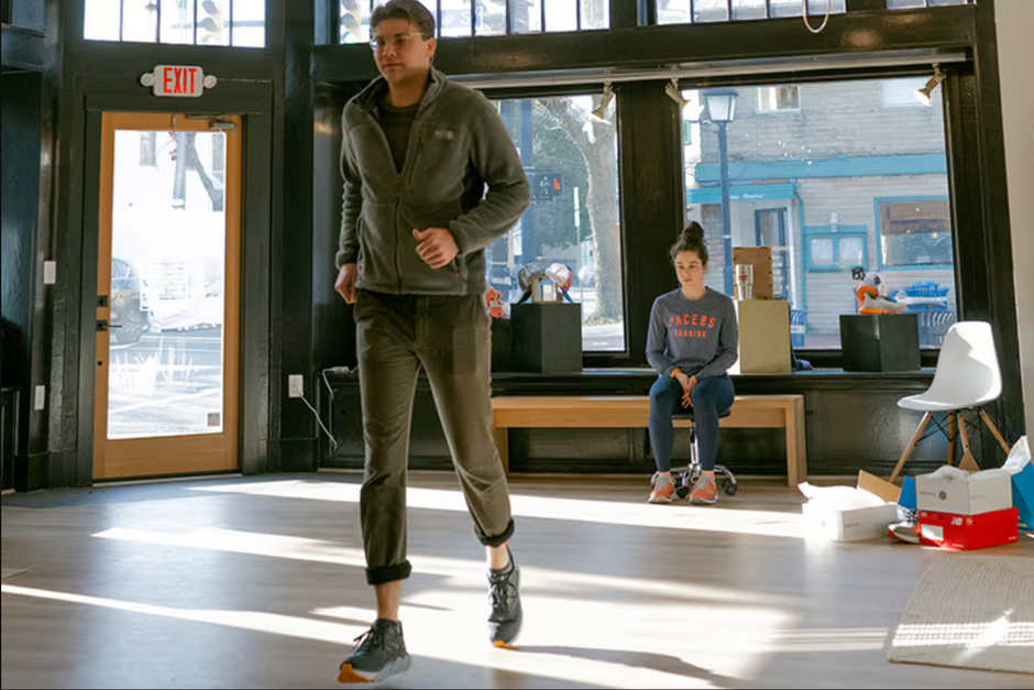
[[[647,361],[661,376],[675,369],[697,381],[722,376],[736,363],[739,327],[733,300],[710,287],[700,299],[682,288],[653,302]]]

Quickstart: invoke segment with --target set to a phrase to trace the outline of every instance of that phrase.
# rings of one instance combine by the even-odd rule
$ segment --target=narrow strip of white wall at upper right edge
[[[1026,428],[1034,434],[1034,1],[997,0]]]

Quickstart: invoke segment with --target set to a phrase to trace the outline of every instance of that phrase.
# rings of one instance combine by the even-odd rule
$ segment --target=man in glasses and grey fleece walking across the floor
[[[435,18],[420,2],[378,7],[371,35],[381,78],[342,116],[336,289],[355,305],[366,441],[360,510],[377,620],[341,665],[342,682],[410,666],[398,610],[411,571],[406,475],[421,365],[486,547],[491,642],[508,645],[521,624],[509,491],[492,436],[484,248],[528,208],[528,180],[495,107],[431,66]]]

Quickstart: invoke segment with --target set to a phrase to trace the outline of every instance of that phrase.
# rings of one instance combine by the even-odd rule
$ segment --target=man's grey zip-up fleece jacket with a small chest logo
[[[336,263],[359,263],[358,287],[394,295],[477,295],[485,248],[531,202],[520,157],[495,106],[431,69],[403,168],[380,123],[387,83],[344,107],[344,195]],[[487,189],[487,191],[486,191]],[[460,254],[442,269],[417,254],[414,230],[448,228]]]

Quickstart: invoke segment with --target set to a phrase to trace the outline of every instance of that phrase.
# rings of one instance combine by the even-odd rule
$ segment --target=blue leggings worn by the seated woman
[[[650,443],[659,472],[671,471],[671,449],[675,442],[672,415],[684,412],[682,384],[676,379],[658,379],[650,388]],[[725,376],[704,379],[693,388],[693,417],[700,443],[700,464],[705,472],[714,471],[722,437],[718,415],[733,406],[736,392],[733,380]]]

